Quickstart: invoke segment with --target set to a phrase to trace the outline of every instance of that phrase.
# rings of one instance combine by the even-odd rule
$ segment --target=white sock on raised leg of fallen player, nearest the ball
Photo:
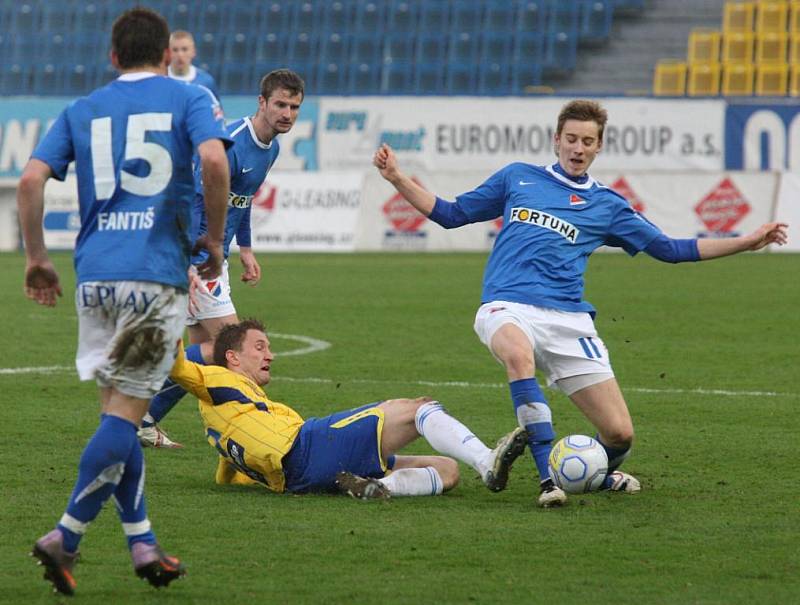
[[[469,464],[484,477],[491,468],[492,450],[472,431],[453,418],[438,401],[421,405],[414,418],[417,432],[431,447]]]

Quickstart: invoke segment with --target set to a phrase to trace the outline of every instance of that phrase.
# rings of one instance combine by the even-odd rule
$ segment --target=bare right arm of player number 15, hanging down
[[[203,174],[203,197],[205,199],[208,231],[198,240],[198,245],[208,250],[208,259],[197,267],[203,279],[213,279],[222,271],[222,240],[225,236],[225,216],[228,211],[230,173],[228,156],[219,139],[200,143],[197,147]]]

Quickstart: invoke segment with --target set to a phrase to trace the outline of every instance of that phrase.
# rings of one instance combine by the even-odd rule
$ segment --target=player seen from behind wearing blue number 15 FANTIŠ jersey
[[[27,258],[25,292],[52,306],[61,296],[42,230],[44,187],[75,162],[81,228],[75,248],[76,365],[99,387],[99,426],[56,528],[32,555],[45,579],[71,595],[78,543],[114,498],[136,574],[155,587],[185,573],[156,542],[144,499],[144,458],[136,430],[177,355],[184,326],[194,195],[192,158],[206,183],[208,258],[219,274],[230,141],[216,100],[166,77],[169,28],[157,13],[132,9],[114,22],[111,62],[120,76],[71,103],[36,147],[17,202]]]

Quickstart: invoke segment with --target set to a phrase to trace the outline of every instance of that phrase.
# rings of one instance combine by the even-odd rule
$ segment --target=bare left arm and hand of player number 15
[[[25,296],[48,307],[54,306],[62,295],[58,273],[47,256],[42,229],[44,185],[52,174],[46,163],[31,159],[17,189],[17,212],[25,242]]]

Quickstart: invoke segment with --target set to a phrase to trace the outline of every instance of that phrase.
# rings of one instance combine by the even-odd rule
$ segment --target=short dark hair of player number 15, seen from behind
[[[111,28],[111,49],[123,69],[161,65],[169,48],[166,19],[149,8],[132,8],[122,13]]]

